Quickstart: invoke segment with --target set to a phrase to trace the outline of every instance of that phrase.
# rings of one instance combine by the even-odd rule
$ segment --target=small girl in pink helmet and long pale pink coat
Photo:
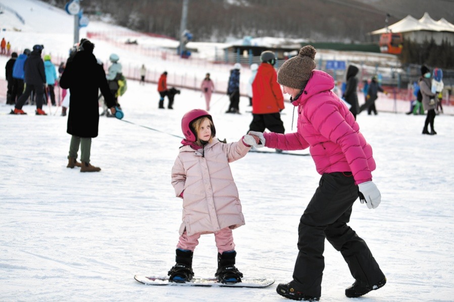
[[[243,225],[244,217],[229,164],[246,155],[259,138],[245,135],[235,143],[220,142],[212,116],[202,109],[187,112],[181,128],[185,139],[172,168],[172,186],[175,195],[183,199],[183,223],[169,280],[192,279],[192,255],[198,238],[214,233],[218,281],[241,282],[243,274],[235,267],[232,229]]]

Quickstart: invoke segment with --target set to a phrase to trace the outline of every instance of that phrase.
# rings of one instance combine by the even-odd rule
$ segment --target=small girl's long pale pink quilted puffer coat
[[[183,193],[183,223],[188,235],[212,233],[244,224],[238,189],[229,163],[247,154],[250,147],[242,138],[236,143],[221,143],[216,138],[204,149],[189,145],[180,148],[172,168],[175,195]]]

